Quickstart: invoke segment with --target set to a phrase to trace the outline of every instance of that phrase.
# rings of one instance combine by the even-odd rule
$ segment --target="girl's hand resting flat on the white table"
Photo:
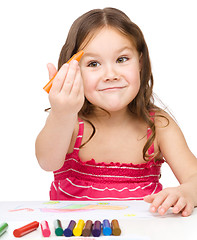
[[[166,188],[157,194],[148,195],[144,201],[151,203],[150,211],[153,213],[158,211],[160,215],[164,215],[172,207],[173,213],[182,212],[182,216],[187,217],[194,209],[190,195],[187,186],[180,185],[179,187]]]

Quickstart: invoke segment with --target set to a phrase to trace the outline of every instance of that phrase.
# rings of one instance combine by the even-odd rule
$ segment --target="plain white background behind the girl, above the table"
[[[77,7],[77,9],[76,9]],[[34,144],[49,107],[46,64],[57,65],[72,22],[93,8],[123,10],[143,31],[154,92],[169,107],[191,151],[196,148],[197,14],[195,0],[6,0],[0,3],[0,200],[47,200],[53,180]],[[167,164],[164,187],[177,181]]]

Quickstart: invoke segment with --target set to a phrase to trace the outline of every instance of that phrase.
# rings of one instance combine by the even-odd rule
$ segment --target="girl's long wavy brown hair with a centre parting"
[[[143,158],[144,160],[148,160],[150,156],[147,151],[156,135],[154,123],[155,116],[150,116],[150,112],[160,111],[161,109],[154,105],[151,63],[148,47],[140,28],[133,23],[125,13],[115,8],[94,9],[86,12],[76,19],[70,28],[68,37],[59,56],[58,69],[79,50],[84,40],[87,40],[87,37],[91,38],[95,30],[104,26],[114,27],[128,37],[136,47],[139,56],[141,56],[142,68],[140,72],[140,90],[135,99],[128,105],[128,108],[132,113],[136,114],[138,118],[143,119],[152,130],[152,134],[143,148]],[[93,110],[94,106],[85,99],[79,116],[87,120],[86,117],[92,114]],[[89,140],[95,132],[93,125],[92,127],[93,134],[90,136]]]

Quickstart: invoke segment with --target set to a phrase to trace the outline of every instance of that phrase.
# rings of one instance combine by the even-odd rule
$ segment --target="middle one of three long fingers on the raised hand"
[[[69,70],[64,81],[62,91],[64,93],[70,94],[73,83],[75,81],[76,73],[77,73],[78,62],[76,60],[72,60],[69,63]]]

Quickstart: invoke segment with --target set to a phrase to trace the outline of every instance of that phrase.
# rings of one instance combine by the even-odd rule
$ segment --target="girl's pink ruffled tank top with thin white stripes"
[[[160,168],[164,160],[154,159],[143,164],[83,162],[79,158],[84,123],[79,119],[79,132],[72,153],[64,165],[54,171],[51,200],[142,200],[146,195],[162,190]],[[151,130],[148,128],[147,137]],[[154,145],[149,148],[154,153]]]

